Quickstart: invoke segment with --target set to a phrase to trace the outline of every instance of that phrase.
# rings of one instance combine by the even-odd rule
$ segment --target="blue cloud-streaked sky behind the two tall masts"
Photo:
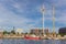
[[[53,30],[53,4],[55,8],[55,31],[66,26],[66,0],[0,0],[0,30],[11,31],[13,26],[28,32],[42,28],[42,6],[45,7],[44,28]]]

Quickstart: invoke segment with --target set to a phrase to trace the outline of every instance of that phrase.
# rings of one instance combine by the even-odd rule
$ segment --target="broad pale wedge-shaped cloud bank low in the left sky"
[[[15,8],[19,8],[19,7],[15,7]],[[40,23],[40,21],[41,20],[32,20],[32,19],[16,15],[12,11],[6,9],[4,6],[0,4],[0,26],[4,26],[4,29],[8,29],[9,26],[31,29],[36,26]],[[31,23],[31,24],[28,24],[28,23]]]

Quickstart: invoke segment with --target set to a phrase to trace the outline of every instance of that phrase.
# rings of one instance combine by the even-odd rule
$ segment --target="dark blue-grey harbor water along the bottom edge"
[[[22,38],[1,38],[0,44],[66,44],[66,40],[22,40]]]

